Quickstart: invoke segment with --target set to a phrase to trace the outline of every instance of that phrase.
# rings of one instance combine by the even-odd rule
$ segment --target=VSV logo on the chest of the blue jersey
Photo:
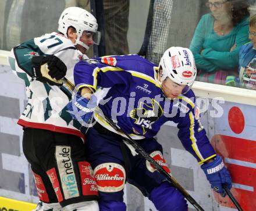
[[[151,99],[151,104],[140,102],[137,109],[130,112],[130,117],[134,119],[134,123],[143,128],[143,135],[147,132],[146,128],[152,128],[152,124],[163,115],[163,109],[160,104]]]

